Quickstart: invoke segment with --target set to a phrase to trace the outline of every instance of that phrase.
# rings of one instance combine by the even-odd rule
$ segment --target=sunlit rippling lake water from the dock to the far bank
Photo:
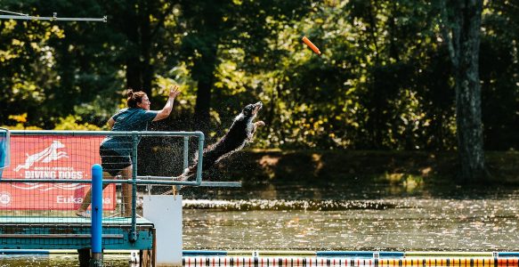
[[[355,187],[297,182],[186,189],[183,248],[509,251],[519,239],[515,188]],[[107,255],[106,266],[132,266]],[[0,266],[76,266],[77,256],[0,256]]]

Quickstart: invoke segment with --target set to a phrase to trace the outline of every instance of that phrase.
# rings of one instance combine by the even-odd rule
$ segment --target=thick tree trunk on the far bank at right
[[[443,36],[449,45],[456,83],[459,178],[462,182],[483,182],[487,171],[478,64],[483,0],[442,3]]]

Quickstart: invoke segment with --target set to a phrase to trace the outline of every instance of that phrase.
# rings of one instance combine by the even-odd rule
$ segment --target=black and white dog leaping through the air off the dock
[[[260,101],[255,104],[248,104],[241,110],[241,113],[234,118],[229,131],[218,142],[204,150],[202,171],[207,171],[223,158],[231,156],[232,153],[243,149],[248,142],[252,142],[256,128],[265,125],[263,121],[254,122],[259,109],[262,107],[263,104]],[[198,157],[195,157],[191,166],[186,168],[179,177],[181,181],[186,181],[197,173],[198,162]]]

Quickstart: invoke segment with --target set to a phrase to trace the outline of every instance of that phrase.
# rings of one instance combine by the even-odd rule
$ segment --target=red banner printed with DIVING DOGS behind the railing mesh
[[[11,165],[2,179],[89,181],[93,164],[101,164],[103,136],[11,136]],[[0,182],[0,209],[75,210],[90,183]],[[103,190],[103,209],[116,206],[115,185]]]

